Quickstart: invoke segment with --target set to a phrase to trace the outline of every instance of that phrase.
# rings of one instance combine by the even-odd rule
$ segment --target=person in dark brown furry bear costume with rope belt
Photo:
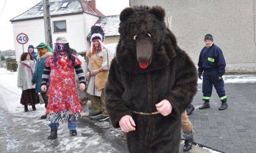
[[[130,153],[178,153],[180,115],[197,92],[197,69],[164,17],[158,6],[127,7],[119,16],[105,105],[113,127],[127,133]]]

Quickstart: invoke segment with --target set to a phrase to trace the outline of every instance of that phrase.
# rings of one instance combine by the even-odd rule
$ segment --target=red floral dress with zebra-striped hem
[[[52,63],[53,54],[46,59],[46,67],[51,67],[50,85],[47,92],[49,96],[46,114],[48,121],[51,122],[66,122],[80,117],[81,107],[75,82],[74,67],[81,64],[76,58],[74,66],[71,67],[67,63],[66,55],[61,56],[59,67]]]

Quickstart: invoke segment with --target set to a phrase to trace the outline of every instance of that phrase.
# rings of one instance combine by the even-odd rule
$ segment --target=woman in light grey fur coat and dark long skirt
[[[24,111],[28,112],[27,105],[32,105],[32,109],[36,110],[35,105],[39,103],[39,96],[32,85],[31,79],[35,71],[36,61],[30,53],[23,53],[20,57],[18,65],[17,86],[22,89],[20,103],[24,105]]]

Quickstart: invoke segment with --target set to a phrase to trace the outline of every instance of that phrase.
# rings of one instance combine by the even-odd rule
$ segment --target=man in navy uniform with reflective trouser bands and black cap
[[[202,93],[205,103],[199,109],[210,108],[210,98],[212,96],[212,85],[214,85],[220,101],[222,102],[219,110],[228,107],[227,96],[224,90],[222,75],[225,73],[226,62],[222,50],[213,43],[211,34],[205,35],[205,47],[202,48],[198,60],[198,77],[201,78],[202,72]]]

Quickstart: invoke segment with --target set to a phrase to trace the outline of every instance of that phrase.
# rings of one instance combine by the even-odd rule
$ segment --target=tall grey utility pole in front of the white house
[[[44,35],[46,45],[52,48],[52,38],[51,38],[51,15],[50,15],[50,3],[49,0],[43,0],[44,8]]]

